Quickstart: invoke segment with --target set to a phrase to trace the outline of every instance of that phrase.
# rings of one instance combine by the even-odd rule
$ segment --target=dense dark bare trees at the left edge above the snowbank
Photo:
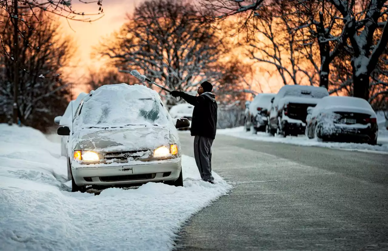
[[[17,86],[17,117],[20,122],[44,129],[45,126],[52,124],[68,98],[66,82],[60,78],[45,76],[52,72],[61,73],[61,68],[68,65],[72,47],[69,38],[61,38],[58,25],[45,17],[43,10],[35,15],[24,16],[28,16],[28,19],[26,23],[19,25],[23,42],[18,46],[17,78],[14,71],[15,60],[0,54],[2,108],[0,117],[3,122],[10,118],[14,103],[14,87]],[[13,27],[7,25],[11,22],[10,19],[2,17],[2,21],[2,26],[5,26],[2,34],[3,48],[6,54],[10,54],[17,42],[12,35]],[[15,79],[18,81],[16,85]]]

